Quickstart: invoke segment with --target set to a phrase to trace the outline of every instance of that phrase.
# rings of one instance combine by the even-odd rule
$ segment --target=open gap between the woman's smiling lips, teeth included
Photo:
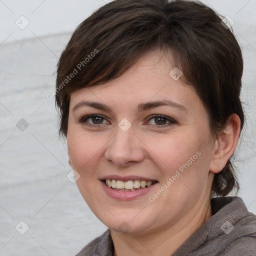
[[[145,180],[128,180],[128,181],[121,181],[121,180],[116,180],[116,179],[104,179],[104,183],[117,191],[135,191],[138,189],[142,189],[145,187],[149,187],[157,181],[152,180],[152,181],[145,181]]]

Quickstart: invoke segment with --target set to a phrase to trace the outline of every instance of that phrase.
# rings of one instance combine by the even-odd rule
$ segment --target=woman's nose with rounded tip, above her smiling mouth
[[[107,143],[104,156],[108,162],[117,167],[127,167],[143,161],[145,157],[143,145],[132,126],[127,131],[116,127],[115,135]]]

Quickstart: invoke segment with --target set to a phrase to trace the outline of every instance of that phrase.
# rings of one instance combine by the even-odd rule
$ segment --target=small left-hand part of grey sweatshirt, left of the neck
[[[107,229],[103,234],[85,245],[75,256],[110,256],[112,255],[112,248],[113,245],[110,230]]]

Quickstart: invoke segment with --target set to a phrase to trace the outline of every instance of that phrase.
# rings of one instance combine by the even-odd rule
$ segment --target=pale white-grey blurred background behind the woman
[[[74,255],[106,229],[66,176],[66,144],[46,95],[71,32],[109,1],[0,0],[0,255]],[[238,195],[256,213],[256,0],[202,2],[233,20],[242,47],[247,122],[235,164]]]

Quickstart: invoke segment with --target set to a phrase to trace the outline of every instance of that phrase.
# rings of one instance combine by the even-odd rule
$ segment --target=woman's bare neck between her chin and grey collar
[[[164,225],[158,230],[146,233],[120,233],[111,230],[114,244],[114,256],[154,255],[169,256],[211,217],[210,202],[208,207],[202,203],[193,216],[185,216],[175,224]]]

